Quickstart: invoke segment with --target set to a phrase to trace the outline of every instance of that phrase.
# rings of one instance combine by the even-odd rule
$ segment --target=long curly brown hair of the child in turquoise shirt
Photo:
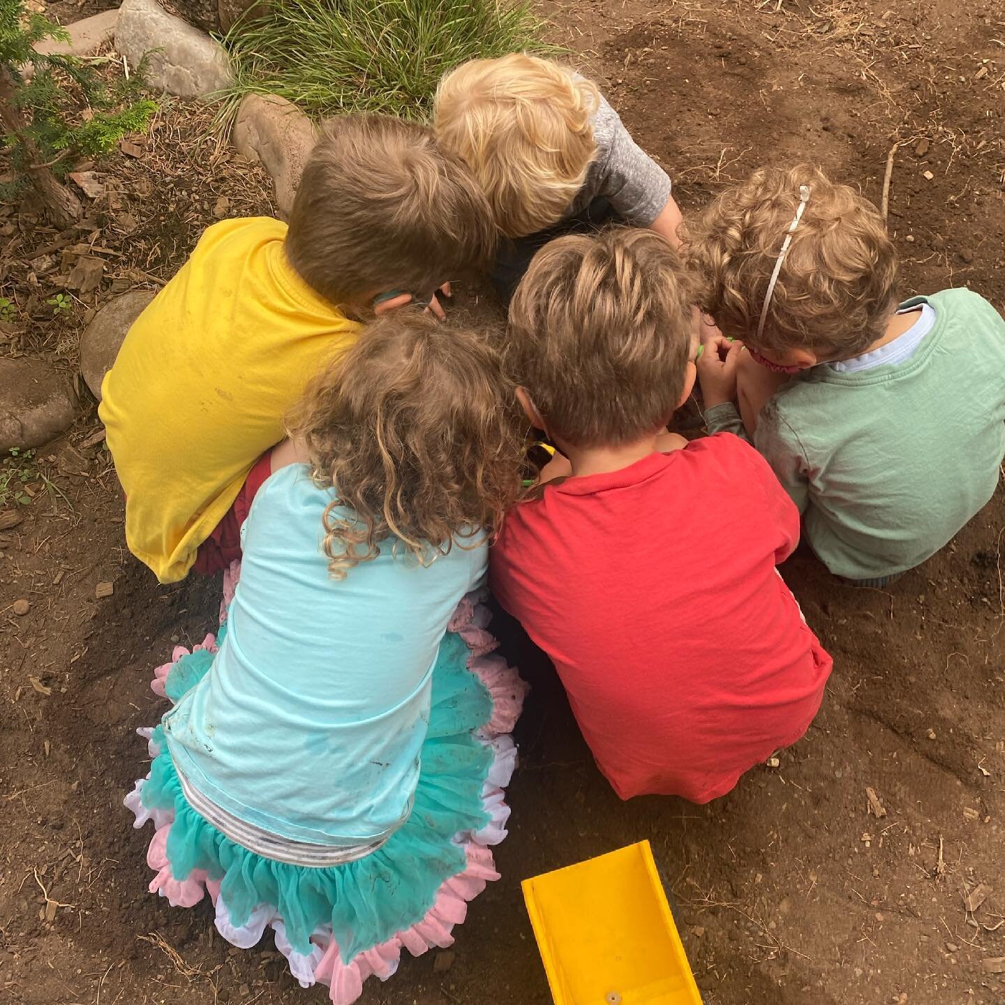
[[[489,539],[522,487],[522,422],[498,354],[414,309],[379,319],[287,419],[307,444],[336,579],[384,542],[422,565]],[[471,544],[468,544],[471,542]]]

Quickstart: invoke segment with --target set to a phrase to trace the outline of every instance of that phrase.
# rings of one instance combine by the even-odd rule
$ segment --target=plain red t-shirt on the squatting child
[[[799,514],[729,433],[544,487],[489,574],[622,799],[705,803],[806,732],[831,658],[775,570]]]

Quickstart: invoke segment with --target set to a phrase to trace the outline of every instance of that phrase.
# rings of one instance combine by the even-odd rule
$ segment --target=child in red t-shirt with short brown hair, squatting
[[[552,241],[510,309],[518,395],[568,463],[508,515],[491,585],[623,799],[729,792],[803,736],[831,668],[775,569],[799,514],[767,462],[665,431],[694,383],[691,311],[676,252],[624,228]]]

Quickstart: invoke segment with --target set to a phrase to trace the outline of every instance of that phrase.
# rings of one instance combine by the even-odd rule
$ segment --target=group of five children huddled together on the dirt
[[[501,345],[436,320],[477,271]],[[687,442],[695,381],[722,435]],[[831,669],[776,568],[800,534],[879,585],[990,499],[1005,323],[898,304],[881,216],[813,167],[682,225],[596,86],[515,54],[448,74],[432,130],[333,121],[288,227],[210,227],[103,392],[130,549],[225,571],[217,635],[156,673],[151,889],[348,1005],[496,878],[525,685],[486,582],[621,797],[722,796]]]

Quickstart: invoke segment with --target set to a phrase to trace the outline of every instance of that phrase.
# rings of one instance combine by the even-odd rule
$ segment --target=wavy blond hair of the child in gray
[[[526,52],[472,59],[436,90],[433,128],[484,189],[507,237],[562,219],[596,157],[596,84]]]

